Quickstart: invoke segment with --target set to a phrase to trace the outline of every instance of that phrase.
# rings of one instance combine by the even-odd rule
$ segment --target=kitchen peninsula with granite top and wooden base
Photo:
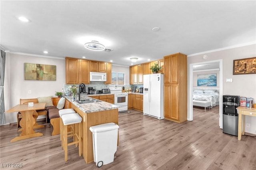
[[[118,125],[119,106],[82,96],[81,102],[73,101],[71,96],[66,96],[71,103],[71,108],[82,117],[82,155],[88,164],[94,162],[91,126],[104,123]]]

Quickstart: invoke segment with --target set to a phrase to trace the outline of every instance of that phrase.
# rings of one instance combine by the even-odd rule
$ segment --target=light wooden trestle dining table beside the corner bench
[[[36,110],[44,109],[46,103],[34,103],[34,106],[28,107],[28,105],[16,105],[12,109],[6,111],[5,113],[10,112],[20,112],[22,114],[22,119],[20,120],[20,126],[22,127],[22,132],[20,136],[17,136],[11,140],[11,142],[43,136],[42,133],[36,133],[33,128],[39,128],[40,125],[36,124],[36,118],[38,117],[38,113]]]

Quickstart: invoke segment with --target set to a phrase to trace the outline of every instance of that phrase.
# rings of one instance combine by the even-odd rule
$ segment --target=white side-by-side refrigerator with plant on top
[[[164,75],[143,76],[143,115],[164,119]]]

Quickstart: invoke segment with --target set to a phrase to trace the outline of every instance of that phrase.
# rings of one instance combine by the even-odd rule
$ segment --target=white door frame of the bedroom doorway
[[[222,67],[222,59],[218,60],[212,60],[212,61],[205,61],[205,62],[200,62],[200,63],[191,63],[189,65],[189,109],[188,109],[188,121],[193,121],[193,66],[195,65],[203,65],[207,63],[219,63],[219,69],[220,69],[220,74],[219,77],[217,77],[217,81],[219,81],[219,126],[222,128],[222,95],[223,95],[223,67]],[[210,70],[207,70],[210,71]]]

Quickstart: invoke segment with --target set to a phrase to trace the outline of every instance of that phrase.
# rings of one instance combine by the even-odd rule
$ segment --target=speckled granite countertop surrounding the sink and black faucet
[[[99,95],[102,95],[102,94],[99,94]],[[106,95],[106,94],[103,94],[103,95]],[[91,96],[93,96],[93,95],[91,95]],[[84,113],[92,113],[92,112],[99,112],[99,111],[106,111],[106,110],[120,108],[120,106],[113,105],[112,103],[107,103],[107,102],[100,101],[97,99],[93,99],[93,100],[100,101],[100,102],[79,104],[76,101],[72,100],[72,98],[73,98],[72,96],[66,96],[65,98],[68,101],[70,101],[73,105],[75,105],[78,109],[83,111]],[[92,98],[88,97],[88,95],[84,95],[84,96],[81,96],[80,99],[84,100],[84,99],[92,99]]]

